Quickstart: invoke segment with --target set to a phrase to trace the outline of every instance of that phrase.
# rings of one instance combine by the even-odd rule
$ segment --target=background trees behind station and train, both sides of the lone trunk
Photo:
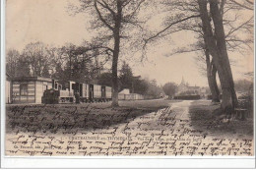
[[[54,78],[60,83],[75,81],[112,86],[112,74],[104,67],[109,61],[104,52],[92,45],[66,44],[56,48],[34,42],[28,44],[21,54],[15,49],[7,52],[6,72],[11,78],[39,76]],[[156,81],[135,77],[126,62],[118,70],[118,91],[124,88],[153,98],[162,92]]]

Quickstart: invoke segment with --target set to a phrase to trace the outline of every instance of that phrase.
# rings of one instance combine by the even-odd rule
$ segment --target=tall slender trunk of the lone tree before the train
[[[117,64],[120,51],[120,27],[122,19],[122,4],[117,1],[117,16],[115,18],[114,34],[114,51],[112,59],[112,107],[118,106],[118,77],[117,77]]]

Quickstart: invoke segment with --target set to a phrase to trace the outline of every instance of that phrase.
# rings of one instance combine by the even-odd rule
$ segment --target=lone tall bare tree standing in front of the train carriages
[[[92,27],[98,30],[104,45],[112,53],[112,106],[118,106],[117,64],[121,39],[126,38],[131,27],[138,27],[138,12],[145,0],[80,0],[77,12],[91,12]],[[101,34],[100,34],[100,30]],[[126,34],[125,34],[126,33]]]

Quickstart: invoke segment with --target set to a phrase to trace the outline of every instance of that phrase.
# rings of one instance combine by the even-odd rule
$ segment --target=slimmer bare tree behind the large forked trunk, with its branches
[[[245,54],[246,50],[252,49],[252,29],[253,29],[253,17],[248,17],[247,20],[240,19],[239,14],[244,13],[244,9],[236,7],[232,2],[221,1],[221,13],[224,16],[224,28],[225,28],[225,42],[228,51],[239,52]],[[210,16],[211,17],[211,16]],[[170,55],[177,53],[187,52],[199,52],[197,62],[206,63],[206,65],[199,65],[203,74],[207,73],[208,83],[212,93],[213,101],[220,101],[219,88],[217,85],[217,69],[213,62],[213,59],[209,53],[209,49],[204,42],[204,33],[200,23],[196,25],[184,26],[184,29],[192,30],[197,34],[198,41],[194,44],[186,47],[179,47],[174,50]],[[245,34],[247,33],[247,34]],[[243,34],[241,36],[240,34]],[[247,36],[246,36],[247,35]],[[249,35],[249,36],[248,36]],[[203,68],[202,68],[203,67]]]

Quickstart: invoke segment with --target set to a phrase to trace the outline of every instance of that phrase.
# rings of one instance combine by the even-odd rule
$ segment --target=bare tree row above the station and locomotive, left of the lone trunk
[[[6,71],[10,77],[40,76],[59,81],[93,82],[107,62],[104,51],[91,46],[66,44],[48,47],[42,42],[28,44],[20,53],[10,49],[6,57]]]

